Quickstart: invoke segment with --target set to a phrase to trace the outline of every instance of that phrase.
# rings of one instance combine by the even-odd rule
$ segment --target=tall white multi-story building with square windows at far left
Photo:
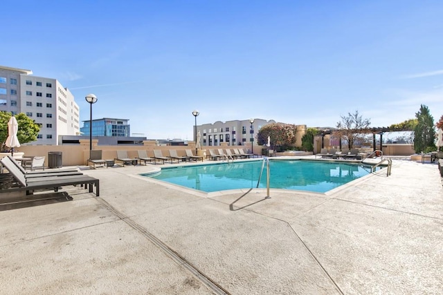
[[[31,70],[0,66],[0,111],[25,113],[40,125],[36,142],[57,145],[58,135],[80,133],[80,109],[57,79],[36,77]]]

